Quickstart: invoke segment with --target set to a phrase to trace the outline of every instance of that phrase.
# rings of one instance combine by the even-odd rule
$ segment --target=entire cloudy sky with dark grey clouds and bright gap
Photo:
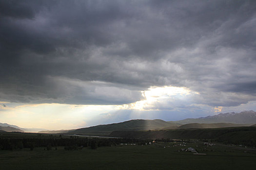
[[[0,0],[0,11],[0,122],[256,110],[255,0]]]

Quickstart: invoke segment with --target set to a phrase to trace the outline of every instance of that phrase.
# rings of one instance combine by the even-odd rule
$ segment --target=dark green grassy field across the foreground
[[[198,153],[177,152],[195,148]],[[256,151],[229,145],[157,143],[66,151],[63,147],[0,151],[0,170],[255,170]]]

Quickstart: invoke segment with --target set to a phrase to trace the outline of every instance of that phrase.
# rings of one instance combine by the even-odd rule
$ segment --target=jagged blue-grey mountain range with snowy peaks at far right
[[[255,111],[242,111],[240,113],[220,113],[215,116],[207,116],[204,118],[197,119],[183,119],[178,121],[169,121],[177,122],[180,124],[188,123],[237,123],[237,124],[255,124],[256,123],[256,112]]]

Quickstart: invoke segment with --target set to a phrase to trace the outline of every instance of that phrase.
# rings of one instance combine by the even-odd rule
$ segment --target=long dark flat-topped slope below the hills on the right
[[[214,129],[172,129],[155,131],[114,131],[111,137],[141,139],[218,139],[256,141],[256,127],[228,127]]]

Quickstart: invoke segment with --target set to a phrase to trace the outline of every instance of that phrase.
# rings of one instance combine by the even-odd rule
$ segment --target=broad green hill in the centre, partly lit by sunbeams
[[[73,131],[69,131],[69,133],[73,134],[86,134],[86,135],[107,135],[113,131],[125,131],[125,130],[133,130],[133,131],[141,131],[141,130],[153,130],[153,129],[174,129],[180,124],[167,122],[160,119],[154,120],[144,120],[144,119],[136,119],[124,121],[121,123],[113,123],[106,125],[98,125],[92,126],[88,128],[81,128]]]

